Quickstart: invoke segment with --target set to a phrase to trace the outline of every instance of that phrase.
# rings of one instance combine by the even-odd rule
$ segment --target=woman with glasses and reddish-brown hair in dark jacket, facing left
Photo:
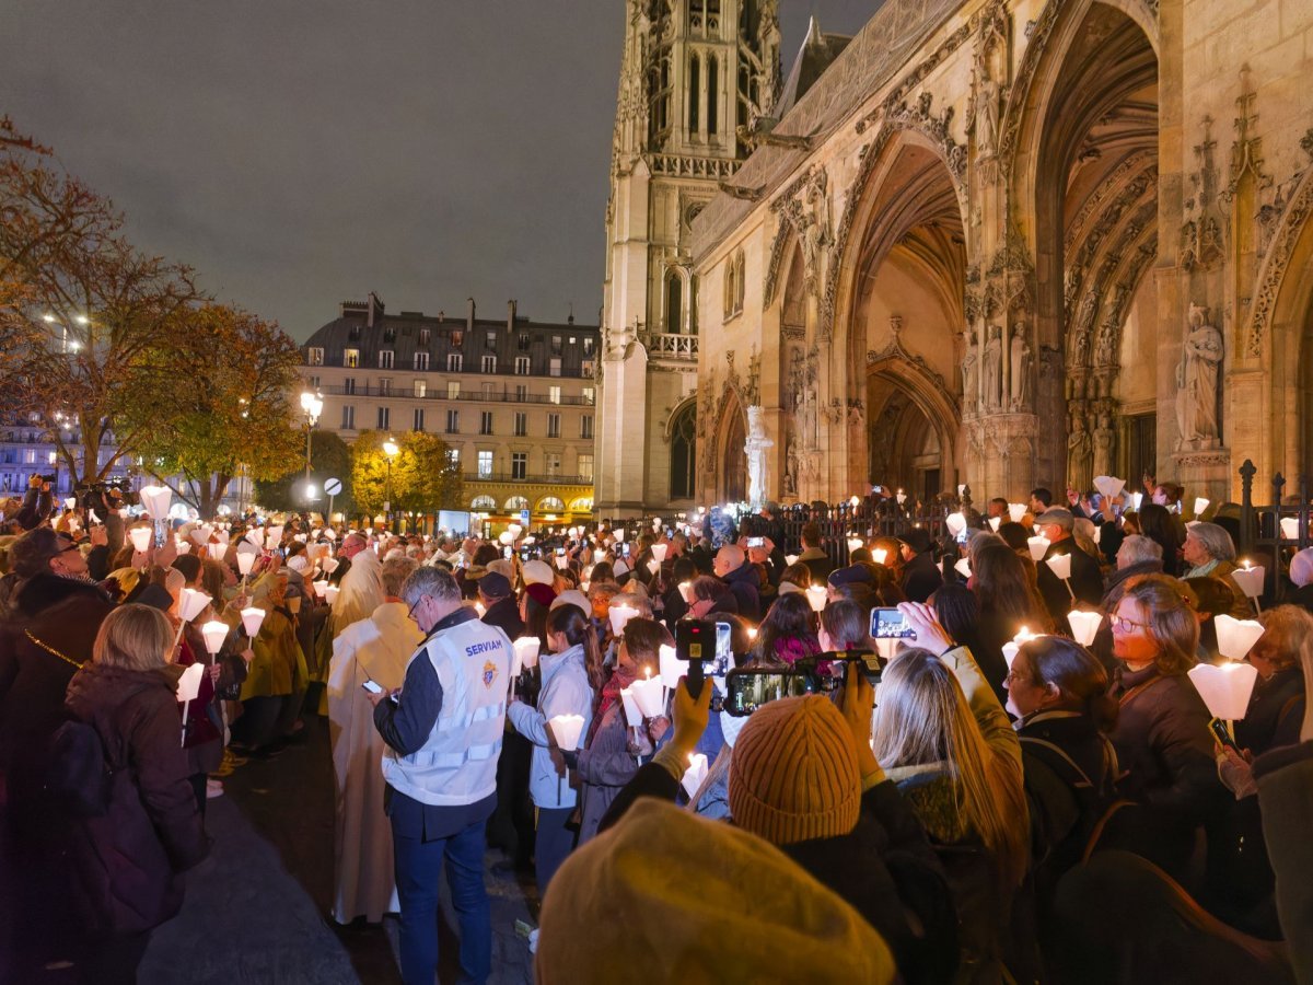
[[[1109,695],[1121,705],[1112,745],[1125,771],[1121,792],[1144,805],[1141,854],[1182,876],[1195,834],[1224,804],[1208,708],[1190,680],[1199,621],[1179,582],[1148,575],[1112,612],[1112,651],[1120,666]]]

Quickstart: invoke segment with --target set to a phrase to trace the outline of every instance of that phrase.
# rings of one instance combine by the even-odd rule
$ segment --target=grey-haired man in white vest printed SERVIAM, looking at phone
[[[483,885],[483,829],[496,806],[511,641],[479,621],[456,579],[419,567],[402,586],[424,641],[400,691],[372,696],[389,749],[385,806],[400,897],[400,964],[407,985],[437,969],[437,880],[446,881],[461,932],[461,980],[492,971],[492,922]]]

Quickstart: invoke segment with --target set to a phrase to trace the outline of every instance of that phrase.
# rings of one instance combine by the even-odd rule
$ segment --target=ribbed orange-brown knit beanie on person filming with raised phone
[[[852,732],[821,695],[762,705],[730,760],[734,823],[773,844],[848,834],[861,812]]]

